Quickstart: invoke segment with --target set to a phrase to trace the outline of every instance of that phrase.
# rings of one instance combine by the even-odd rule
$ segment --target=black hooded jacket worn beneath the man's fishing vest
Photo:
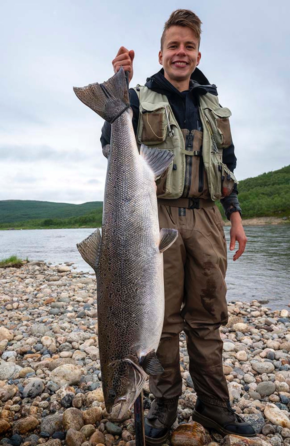
[[[145,85],[156,93],[167,96],[180,128],[187,128],[188,130],[202,130],[198,111],[199,96],[206,93],[211,93],[212,95],[217,96],[216,86],[209,84],[208,79],[198,68],[196,68],[191,75],[189,89],[187,91],[180,92],[172,85],[172,83],[168,82],[167,79],[164,78],[163,68],[158,73],[147,78]],[[136,135],[139,120],[139,98],[133,89],[130,89],[130,103],[133,111],[132,124]],[[110,144],[110,136],[111,126],[109,123],[105,122],[101,136],[102,147],[106,144]],[[228,149],[223,151],[223,163],[233,172],[237,163],[233,143]],[[235,186],[229,197],[221,199],[225,215],[228,219],[233,211],[239,211],[241,213],[237,193],[237,187]]]

